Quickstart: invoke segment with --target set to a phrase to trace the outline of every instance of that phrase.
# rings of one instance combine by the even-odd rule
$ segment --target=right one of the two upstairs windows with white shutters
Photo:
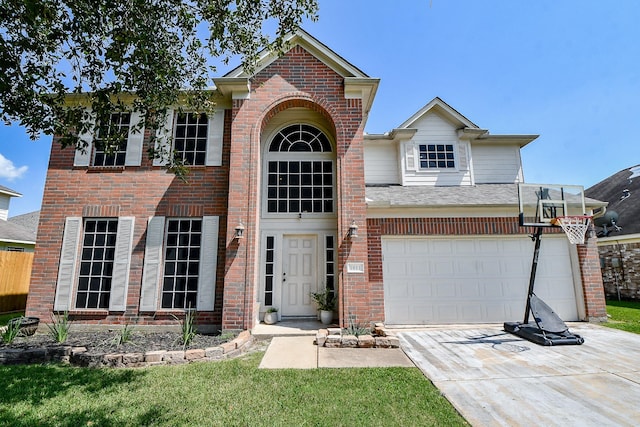
[[[204,165],[207,159],[209,120],[205,113],[178,113],[175,118],[173,149],[187,165]]]

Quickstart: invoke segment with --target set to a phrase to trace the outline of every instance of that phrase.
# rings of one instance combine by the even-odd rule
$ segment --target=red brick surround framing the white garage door
[[[382,236],[455,236],[531,234],[533,228],[522,228],[517,218],[371,218],[367,220],[369,235],[369,292],[383,301]],[[561,233],[547,229],[548,233]],[[587,320],[606,319],[606,306],[600,273],[600,260],[595,239],[577,246]],[[384,304],[384,302],[383,302]],[[382,309],[384,313],[384,308]]]

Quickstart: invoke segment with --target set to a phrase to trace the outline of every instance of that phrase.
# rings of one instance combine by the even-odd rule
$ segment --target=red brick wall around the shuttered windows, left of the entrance
[[[175,324],[169,315],[141,316],[138,312],[147,219],[150,216],[220,216],[220,235],[226,234],[229,174],[230,116],[225,117],[223,166],[193,167],[183,182],[143,156],[140,167],[74,167],[74,151],[60,149],[54,140],[45,183],[38,243],[27,301],[27,315],[49,321],[58,276],[62,233],[66,217],[136,217],[125,313],[73,312],[72,319],[89,324]],[[148,148],[149,131],[145,135]],[[219,241],[216,303],[213,312],[198,314],[198,323],[220,325],[224,277],[224,239]]]

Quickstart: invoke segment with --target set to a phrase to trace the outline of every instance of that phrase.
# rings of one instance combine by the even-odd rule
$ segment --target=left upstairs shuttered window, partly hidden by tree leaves
[[[98,129],[94,140],[94,166],[124,166],[131,113],[111,113],[106,126]]]

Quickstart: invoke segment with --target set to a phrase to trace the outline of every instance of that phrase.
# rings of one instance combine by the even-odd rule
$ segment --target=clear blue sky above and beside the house
[[[640,1],[319,3],[304,29],[381,79],[369,133],[439,96],[493,134],[539,134],[522,150],[527,182],[587,188],[640,163]],[[0,125],[0,185],[23,194],[10,216],[40,208],[50,147]]]

